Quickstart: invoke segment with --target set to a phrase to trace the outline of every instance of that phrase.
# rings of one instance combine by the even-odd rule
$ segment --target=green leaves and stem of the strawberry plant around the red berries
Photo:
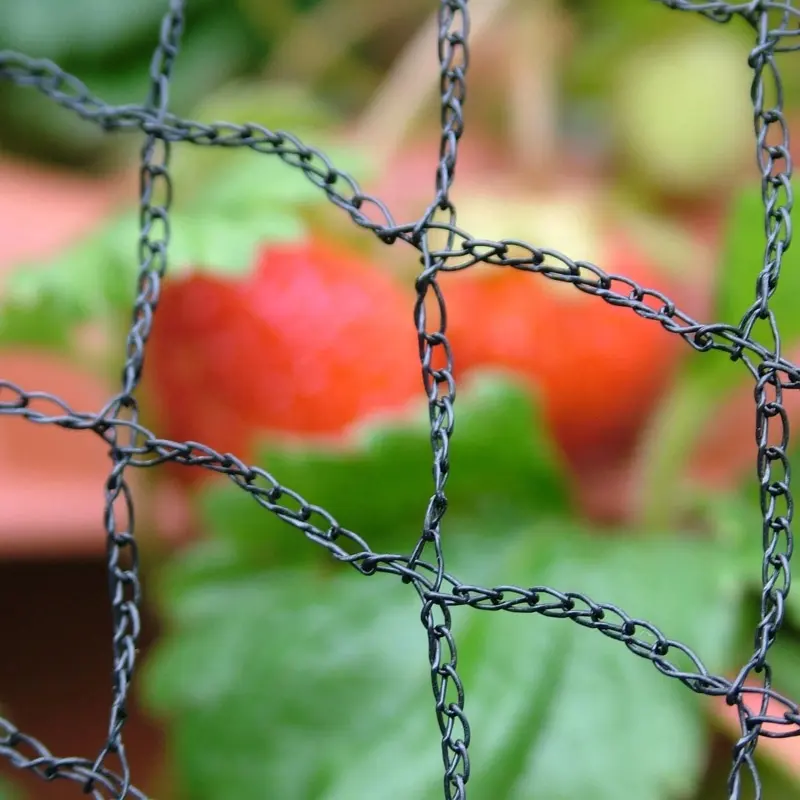
[[[187,177],[181,185],[192,188],[173,217],[173,271],[221,270],[246,280],[258,248],[304,240],[322,213],[311,185],[276,158],[218,172],[189,158],[199,157],[176,165]],[[731,323],[761,263],[757,203],[744,196],[729,234],[717,311]],[[127,244],[135,241],[135,221],[125,215],[57,262],[15,276],[0,342],[74,355],[65,331],[98,319],[115,331],[135,282],[135,250]],[[785,273],[797,270],[787,261]],[[775,300],[782,324],[792,280]],[[221,285],[216,276],[201,281]],[[410,316],[409,308],[409,327]],[[634,321],[667,337],[652,320]],[[584,322],[574,320],[576,327]],[[791,322],[785,330],[800,333]],[[310,344],[299,339],[292,355],[302,360],[314,352]],[[577,342],[571,354],[580,350]],[[715,493],[684,480],[683,470],[702,426],[713,423],[744,373],[731,382],[718,353],[691,363],[655,424],[639,432],[645,444],[631,471],[646,513],[637,518],[627,509],[614,528],[577,513],[575,476],[557,455],[530,381],[465,376],[450,453],[448,569],[480,585],[580,589],[652,619],[712,671],[738,664],[748,649],[745,600],[759,578],[757,508],[738,487]],[[246,382],[239,387],[247,390]],[[362,420],[334,443],[264,436],[253,460],[376,549],[402,552],[419,535],[431,490],[429,447],[420,401],[389,419]],[[263,797],[266,787],[287,800],[334,800],[374,795],[378,787],[389,800],[438,796],[429,665],[410,588],[385,575],[366,581],[341,565],[336,571],[322,548],[221,479],[196,502],[208,537],[164,566],[159,604],[168,632],[144,675],[150,707],[168,722],[186,794]],[[793,606],[790,617],[796,613]],[[481,731],[472,748],[478,794],[617,798],[624,764],[632,796],[702,796],[713,728],[685,687],[623,643],[579,634],[563,620],[475,611],[455,617],[468,713]],[[796,648],[789,634],[787,657]],[[678,666],[692,668],[688,660]],[[598,743],[602,755],[576,769],[576,753],[599,753]],[[369,766],[354,769],[354,761]]]

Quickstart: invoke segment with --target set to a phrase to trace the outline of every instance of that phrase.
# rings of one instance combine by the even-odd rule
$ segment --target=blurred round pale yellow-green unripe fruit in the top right
[[[623,63],[612,113],[624,166],[666,194],[713,194],[754,147],[748,47],[697,25]]]

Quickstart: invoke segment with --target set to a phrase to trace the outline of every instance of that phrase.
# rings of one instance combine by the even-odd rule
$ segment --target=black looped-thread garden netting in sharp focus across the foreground
[[[772,674],[767,662],[769,648],[784,619],[793,550],[793,500],[787,457],[789,426],[783,395],[784,390],[800,387],[800,367],[781,355],[779,326],[769,305],[778,287],[783,255],[791,243],[793,206],[789,132],[775,57],[777,53],[800,50],[800,9],[794,0],[745,3],[649,0],[654,1],[669,9],[698,12],[716,22],[729,22],[739,16],[755,31],[748,63],[754,74],[751,97],[766,247],[764,264],[756,281],[755,300],[750,308],[742,309],[738,325],[697,322],[662,293],[643,288],[625,276],[608,275],[591,263],[574,261],[557,251],[519,240],[476,239],[457,227],[450,189],[458,143],[464,132],[463,104],[469,61],[467,0],[440,0],[439,3],[441,144],[436,192],[418,221],[402,225],[394,221],[379,199],[364,194],[356,181],[339,171],[323,153],[290,133],[273,132],[255,123],[206,124],[181,119],[169,112],[170,78],[184,27],[184,0],[170,0],[151,62],[149,94],[143,104],[107,105],[92,95],[78,78],[63,72],[51,61],[0,51],[0,78],[34,87],[105,131],[142,131],[145,135],[140,167],[139,275],[120,391],[102,409],[90,413],[75,411],[45,392],[28,391],[0,380],[0,413],[71,430],[91,430],[108,444],[111,458],[105,483],[114,655],[108,737],[94,758],[62,758],[0,718],[0,754],[11,765],[29,770],[46,781],[58,778],[75,781],[96,798],[145,797],[132,783],[122,736],[140,633],[141,602],[133,529],[134,501],[125,471],[128,467],[153,467],[174,461],[227,475],[267,511],[298,528],[309,540],[326,548],[337,560],[355,567],[362,575],[390,573],[414,586],[428,635],[446,800],[465,800],[471,772],[470,727],[464,713],[464,686],[457,670],[450,614],[451,607],[467,605],[486,611],[505,610],[571,619],[623,642],[633,653],[650,660],[665,676],[679,680],[693,692],[725,697],[729,705],[738,709],[741,730],[733,747],[728,796],[731,800],[741,797],[742,770],[746,767],[752,778],[754,796],[760,800],[762,789],[754,761],[759,737],[800,734],[800,707],[771,688]],[[777,133],[776,138],[780,140],[777,144],[768,143],[770,131]],[[218,453],[199,442],[158,438],[139,423],[135,392],[142,375],[161,281],[167,271],[172,199],[169,154],[173,142],[249,147],[262,154],[278,155],[289,166],[302,170],[357,225],[372,231],[385,244],[401,240],[421,253],[422,270],[415,284],[414,320],[430,412],[433,493],[425,510],[422,535],[410,554],[376,553],[361,536],[339,525],[329,511],[307,502],[260,467],[245,464],[231,453]],[[446,244],[442,249],[433,247],[429,239],[431,231],[445,232]],[[545,264],[547,257],[560,264]],[[580,291],[596,295],[612,305],[625,306],[640,317],[659,323],[699,352],[727,353],[731,360],[742,362],[752,374],[763,519],[762,590],[753,654],[735,680],[710,674],[688,647],[667,638],[649,622],[631,617],[615,606],[595,602],[579,592],[562,592],[544,586],[471,586],[445,570],[441,523],[447,510],[445,484],[450,472],[449,444],[453,435],[456,392],[452,352],[446,336],[445,300],[437,275],[480,262],[567,281]],[[429,321],[426,311],[429,299],[437,309],[434,322]],[[756,341],[756,328],[762,340],[765,336],[769,339],[769,347]],[[445,366],[442,369],[433,367],[437,349],[443,354]],[[55,403],[61,413],[52,415],[37,411],[38,401]],[[770,444],[771,438],[778,443]],[[670,660],[671,655],[673,659],[690,663],[692,668],[681,669]],[[745,686],[752,675],[760,676],[759,686]],[[770,713],[770,701],[782,706],[783,713]],[[775,727],[765,730],[765,725]],[[116,761],[113,770],[107,766],[112,756]]]

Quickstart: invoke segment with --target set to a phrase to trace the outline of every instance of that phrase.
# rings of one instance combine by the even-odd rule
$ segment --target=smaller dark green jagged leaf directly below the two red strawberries
[[[526,389],[485,373],[463,385],[456,408],[445,531],[458,529],[460,520],[502,525],[568,515],[566,480]],[[408,549],[433,492],[427,408],[415,404],[401,418],[371,421],[346,447],[275,442],[258,463],[373,547]],[[211,530],[255,551],[253,563],[314,554],[301,534],[235,486],[210,487],[202,505]]]

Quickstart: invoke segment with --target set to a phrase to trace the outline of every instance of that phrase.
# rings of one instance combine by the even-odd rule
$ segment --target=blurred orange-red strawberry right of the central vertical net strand
[[[629,242],[615,238],[606,256],[607,272],[664,291],[663,274]],[[541,274],[476,268],[442,284],[457,376],[492,367],[525,379],[576,467],[630,452],[683,352],[676,336]]]

